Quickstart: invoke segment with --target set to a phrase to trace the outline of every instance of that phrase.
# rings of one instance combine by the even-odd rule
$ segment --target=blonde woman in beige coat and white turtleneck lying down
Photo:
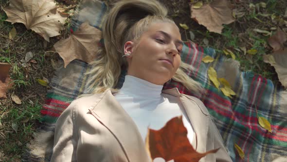
[[[52,161],[151,162],[144,145],[147,128],[161,129],[179,116],[197,152],[220,148],[200,162],[231,161],[203,103],[177,88],[162,90],[170,79],[189,90],[201,89],[184,72],[189,65],[180,61],[179,28],[166,15],[154,0],[114,4],[103,26],[105,50],[90,71],[90,89],[96,88],[59,117]],[[127,75],[117,90],[121,68]]]

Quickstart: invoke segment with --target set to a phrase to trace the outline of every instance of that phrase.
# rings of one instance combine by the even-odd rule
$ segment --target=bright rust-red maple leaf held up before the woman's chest
[[[182,116],[171,119],[160,130],[148,129],[145,144],[152,160],[163,158],[166,162],[198,162],[202,157],[219,149],[206,153],[196,152],[187,138]]]

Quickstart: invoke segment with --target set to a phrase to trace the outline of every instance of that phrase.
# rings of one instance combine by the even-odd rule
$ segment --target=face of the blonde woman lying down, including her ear
[[[131,54],[126,57],[127,75],[163,85],[179,68],[181,50],[179,28],[174,23],[152,23],[137,44],[125,43],[125,54]]]

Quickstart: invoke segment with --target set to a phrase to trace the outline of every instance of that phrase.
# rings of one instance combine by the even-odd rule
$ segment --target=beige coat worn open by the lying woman
[[[51,162],[151,162],[136,124],[111,89],[72,101],[56,122]],[[200,162],[232,162],[222,138],[204,104],[180,94],[177,88],[162,90],[177,100],[195,131],[192,142],[197,152],[220,149]]]

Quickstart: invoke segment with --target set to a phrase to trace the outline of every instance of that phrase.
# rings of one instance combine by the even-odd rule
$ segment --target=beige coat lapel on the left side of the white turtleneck
[[[113,97],[110,89],[107,89],[89,109],[121,144],[128,162],[150,161],[136,124]]]

